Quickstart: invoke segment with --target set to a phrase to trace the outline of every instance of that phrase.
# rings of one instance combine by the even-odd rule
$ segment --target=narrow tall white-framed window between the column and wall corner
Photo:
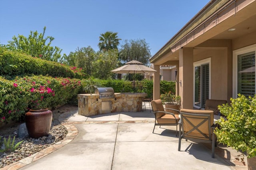
[[[194,107],[204,107],[210,98],[210,58],[194,62]]]

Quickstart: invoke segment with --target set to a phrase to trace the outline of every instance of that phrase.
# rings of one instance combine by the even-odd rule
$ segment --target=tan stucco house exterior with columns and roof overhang
[[[255,9],[255,0],[212,0],[150,59],[154,65],[176,65],[182,108],[193,108],[194,63],[204,59],[210,61],[209,98],[234,97],[233,51],[256,44]],[[160,98],[158,86],[155,82],[154,99]]]

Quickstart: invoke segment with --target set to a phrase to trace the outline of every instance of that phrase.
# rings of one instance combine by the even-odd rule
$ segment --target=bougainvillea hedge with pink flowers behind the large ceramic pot
[[[82,90],[80,79],[32,76],[0,77],[0,122],[19,120],[29,109],[68,103]]]

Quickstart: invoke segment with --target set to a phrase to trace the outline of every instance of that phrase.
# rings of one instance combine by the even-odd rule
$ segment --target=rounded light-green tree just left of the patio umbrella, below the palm
[[[98,79],[113,78],[114,73],[110,72],[118,66],[118,50],[104,50],[96,53],[93,62],[92,76]]]

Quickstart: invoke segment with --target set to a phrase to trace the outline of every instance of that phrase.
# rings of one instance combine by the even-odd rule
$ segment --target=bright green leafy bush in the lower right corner
[[[245,97],[238,94],[230,99],[231,105],[219,106],[220,113],[226,116],[218,121],[215,134],[218,141],[235,150],[246,151],[248,158],[256,156],[256,95]]]

